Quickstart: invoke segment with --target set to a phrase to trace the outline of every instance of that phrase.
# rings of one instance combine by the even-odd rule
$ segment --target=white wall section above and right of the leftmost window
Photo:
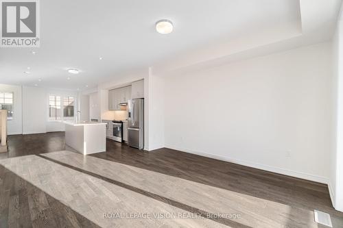
[[[13,119],[8,121],[8,134],[22,134],[22,95],[21,95],[21,86],[12,86],[0,84],[0,92],[13,92],[14,99],[14,110],[13,110]]]

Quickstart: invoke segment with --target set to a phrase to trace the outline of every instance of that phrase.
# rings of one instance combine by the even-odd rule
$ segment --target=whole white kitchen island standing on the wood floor
[[[106,123],[72,122],[65,123],[66,144],[88,155],[106,151]]]

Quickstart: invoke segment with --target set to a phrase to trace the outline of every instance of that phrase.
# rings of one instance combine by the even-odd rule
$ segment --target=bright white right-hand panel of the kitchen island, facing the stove
[[[86,154],[106,151],[106,125],[84,125]]]

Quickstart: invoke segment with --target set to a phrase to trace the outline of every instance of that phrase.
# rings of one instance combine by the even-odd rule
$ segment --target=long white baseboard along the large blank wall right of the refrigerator
[[[213,155],[211,153],[204,153],[204,152],[200,152],[200,151],[193,151],[190,149],[185,149],[185,148],[178,148],[178,147],[173,147],[170,145],[166,145],[166,148],[169,149],[174,149],[176,151],[183,151],[186,153],[193,153],[196,155],[200,155],[200,156],[204,156],[204,157],[211,157],[213,159],[216,160],[222,160],[224,162],[231,162],[231,163],[235,163],[235,164],[240,164],[242,166],[248,166],[248,167],[252,167],[252,168],[258,168],[261,170],[265,170],[265,171],[269,171],[272,173],[279,173],[282,175],[287,175],[290,177],[296,177],[296,178],[300,178],[300,179],[306,179],[309,181],[315,181],[318,183],[325,183],[328,184],[329,183],[329,179],[327,177],[320,177],[320,176],[316,176],[316,175],[311,175],[309,173],[302,173],[302,172],[298,172],[298,171],[294,171],[294,170],[287,170],[285,168],[278,168],[278,167],[274,167],[274,166],[269,166],[269,165],[265,165],[265,164],[258,164],[255,162],[249,162],[249,161],[244,161],[244,160],[237,160],[231,157],[224,157],[224,156],[220,156],[220,155]]]

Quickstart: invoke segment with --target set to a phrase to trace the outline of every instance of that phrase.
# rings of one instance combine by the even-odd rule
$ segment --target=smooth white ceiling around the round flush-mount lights
[[[180,56],[189,61],[182,60],[182,64],[204,61],[192,55],[200,50],[207,55],[211,47],[217,50],[206,58],[242,51],[249,39],[261,43],[266,37],[284,40],[302,34],[304,9],[300,6],[306,1],[40,1],[40,48],[34,50],[38,54],[32,55],[27,48],[0,49],[0,83],[84,90],[86,85],[91,88],[124,72],[163,66]],[[312,8],[340,2],[311,1],[318,2]],[[333,14],[333,10],[325,13]],[[173,33],[156,33],[154,23],[163,18],[173,21]],[[236,44],[229,46],[230,50],[229,42]],[[223,50],[226,53],[221,53]],[[27,66],[29,75],[23,73]],[[70,75],[67,68],[81,72]]]

